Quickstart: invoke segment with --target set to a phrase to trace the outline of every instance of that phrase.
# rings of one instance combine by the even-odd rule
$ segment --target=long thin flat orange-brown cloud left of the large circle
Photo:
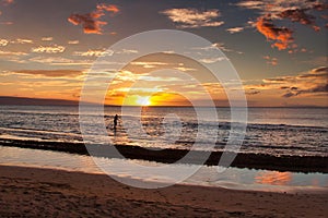
[[[15,71],[14,73],[49,77],[75,77],[82,75],[82,71],[78,70],[22,70]]]

